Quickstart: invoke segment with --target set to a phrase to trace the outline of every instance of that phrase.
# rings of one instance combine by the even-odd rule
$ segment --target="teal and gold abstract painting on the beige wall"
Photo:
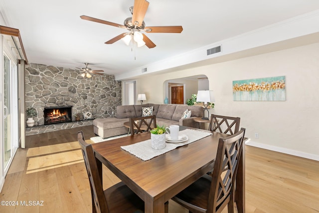
[[[285,101],[285,76],[233,81],[234,101]]]

